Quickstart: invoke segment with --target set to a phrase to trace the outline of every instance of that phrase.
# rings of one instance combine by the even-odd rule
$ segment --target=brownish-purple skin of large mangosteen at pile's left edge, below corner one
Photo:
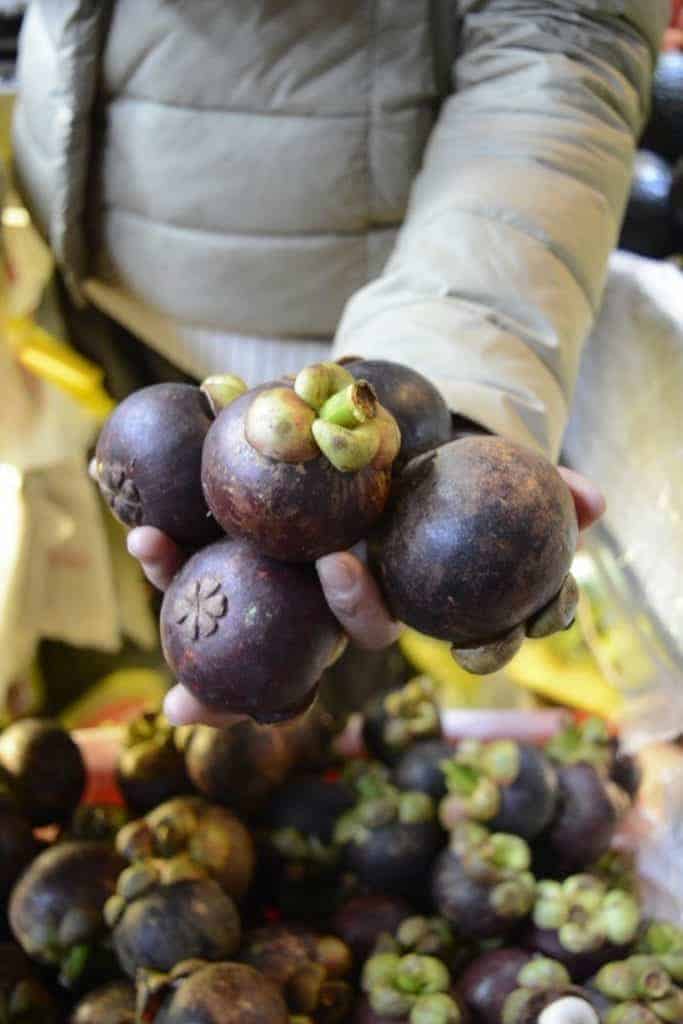
[[[9,899],[9,923],[16,941],[30,945],[36,922],[58,922],[71,909],[101,913],[125,866],[126,861],[108,843],[59,843],[39,854]]]

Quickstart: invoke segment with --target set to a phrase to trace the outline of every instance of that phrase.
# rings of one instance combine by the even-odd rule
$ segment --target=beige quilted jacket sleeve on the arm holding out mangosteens
[[[669,0],[465,0],[444,102],[337,354],[420,369],[556,458],[618,237]]]

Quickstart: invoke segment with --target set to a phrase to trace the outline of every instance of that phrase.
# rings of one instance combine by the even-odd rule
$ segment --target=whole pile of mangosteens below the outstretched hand
[[[144,715],[122,800],[89,806],[67,733],[8,727],[3,1024],[683,1022],[683,929],[612,848],[639,778],[602,722],[456,742],[418,678],[365,734],[343,757],[318,702]]]

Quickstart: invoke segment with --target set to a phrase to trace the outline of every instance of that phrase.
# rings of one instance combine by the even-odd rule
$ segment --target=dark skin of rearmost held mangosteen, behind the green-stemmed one
[[[346,365],[356,380],[375,388],[400,430],[400,451],[394,468],[451,440],[451,410],[440,392],[422,374],[387,359],[359,359]]]

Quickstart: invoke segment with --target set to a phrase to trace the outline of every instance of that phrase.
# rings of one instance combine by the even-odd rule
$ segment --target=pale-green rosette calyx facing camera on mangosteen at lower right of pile
[[[640,925],[640,908],[630,893],[608,889],[593,874],[575,874],[563,883],[539,883],[533,922],[539,928],[557,931],[568,952],[583,953],[605,942],[632,942]]]

